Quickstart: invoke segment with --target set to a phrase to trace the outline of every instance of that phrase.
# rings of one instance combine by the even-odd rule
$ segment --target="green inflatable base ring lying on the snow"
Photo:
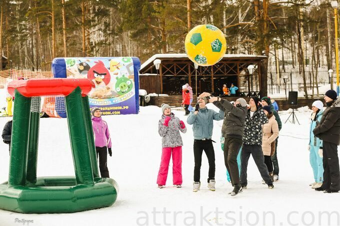
[[[74,177],[41,177],[33,185],[0,185],[0,209],[24,214],[74,213],[111,206],[118,185],[95,178],[94,185],[76,185]]]

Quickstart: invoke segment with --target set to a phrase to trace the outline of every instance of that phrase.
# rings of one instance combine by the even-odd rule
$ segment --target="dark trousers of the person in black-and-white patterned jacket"
[[[263,181],[268,184],[271,183],[271,178],[269,177],[268,169],[264,164],[264,157],[262,152],[261,145],[247,145],[243,144],[242,152],[241,152],[241,185],[247,185],[247,167],[248,167],[248,160],[250,157],[254,159],[254,162],[257,166],[257,169],[263,179]]]

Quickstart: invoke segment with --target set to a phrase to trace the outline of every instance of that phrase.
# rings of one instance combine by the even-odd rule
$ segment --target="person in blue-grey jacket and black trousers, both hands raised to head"
[[[215,153],[212,146],[212,128],[213,120],[219,121],[223,119],[223,111],[219,113],[212,109],[207,109],[206,98],[198,97],[197,104],[187,118],[186,122],[192,125],[193,131],[193,192],[197,192],[200,188],[200,166],[202,162],[203,151],[206,154],[209,163],[208,188],[215,191]]]

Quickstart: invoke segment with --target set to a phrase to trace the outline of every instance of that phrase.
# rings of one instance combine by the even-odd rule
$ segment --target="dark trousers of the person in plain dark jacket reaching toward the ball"
[[[239,184],[239,173],[237,166],[237,155],[242,146],[242,139],[224,138],[223,154],[224,165],[231,179],[231,184]]]

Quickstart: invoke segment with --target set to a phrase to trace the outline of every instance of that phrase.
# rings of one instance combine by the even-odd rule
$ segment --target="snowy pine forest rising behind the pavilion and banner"
[[[280,73],[297,73],[305,84],[308,73],[317,82],[318,73],[335,67],[329,0],[1,0],[0,4],[0,52],[8,58],[7,68],[49,71],[51,60],[63,56],[137,56],[143,62],[156,53],[183,53],[188,30],[204,23],[224,32],[226,53],[267,55],[268,72],[276,73],[277,57]]]

